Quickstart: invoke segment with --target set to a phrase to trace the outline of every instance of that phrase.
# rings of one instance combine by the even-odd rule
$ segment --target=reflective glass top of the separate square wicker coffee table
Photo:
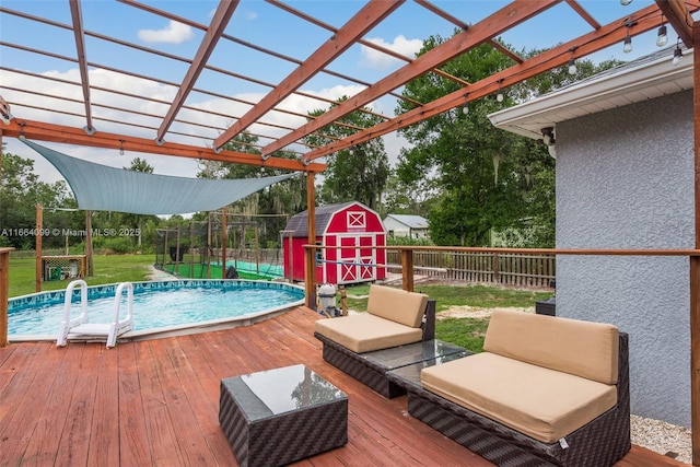
[[[229,377],[221,384],[249,420],[348,398],[302,364]]]

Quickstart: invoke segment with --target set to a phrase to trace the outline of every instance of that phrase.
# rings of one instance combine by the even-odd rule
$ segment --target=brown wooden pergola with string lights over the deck
[[[55,9],[47,9],[46,15],[39,16],[26,13],[21,7],[11,8],[12,2],[3,2],[0,5],[0,20],[3,23],[28,21],[44,27],[47,35],[44,38],[46,46],[40,49],[31,46],[30,44],[35,42],[28,40],[28,37],[3,35],[0,39],[2,49],[26,54],[34,58],[42,57],[47,60],[60,60],[69,63],[80,71],[80,79],[67,81],[49,74],[36,74],[26,71],[22,62],[12,62],[5,60],[4,57],[0,63],[0,75],[23,77],[27,82],[52,84],[46,86],[51,89],[78,86],[81,90],[82,98],[68,98],[60,92],[47,92],[42,86],[10,86],[3,79],[3,82],[0,83],[0,113],[3,117],[3,121],[0,122],[0,141],[2,137],[25,137],[36,141],[304,172],[308,192],[310,244],[314,243],[313,234],[315,232],[315,174],[325,168],[325,164],[317,162],[319,159],[459,107],[470,101],[494,94],[501,89],[508,89],[528,78],[567,65],[572,59],[586,57],[611,45],[621,45],[627,36],[638,36],[648,31],[656,30],[662,24],[667,23],[672,26],[688,48],[695,46],[695,40],[700,40],[700,22],[693,20],[691,15],[700,10],[700,0],[655,0],[654,3],[648,3],[641,9],[637,9],[635,3],[632,2],[623,9],[620,8],[622,12],[620,17],[607,22],[607,24],[600,24],[578,0],[516,0],[485,17],[456,17],[450,13],[447,4],[440,7],[438,0],[413,0],[412,2],[407,2],[407,0],[369,0],[357,2],[357,13],[341,25],[327,24],[279,0],[267,0],[271,8],[285,12],[290,20],[294,20],[295,24],[302,23],[308,28],[314,28],[315,32],[318,30],[324,32],[327,38],[325,42],[315,44],[314,51],[307,57],[296,58],[250,44],[230,32],[232,28],[229,26],[232,19],[236,17],[236,14],[244,14],[240,13],[238,7],[245,4],[245,1],[221,0],[208,24],[178,15],[174,12],[176,9],[165,10],[171,8],[172,3],[177,2],[158,3],[158,7],[164,9],[154,8],[153,3],[147,4],[136,0],[119,0],[118,3],[126,15],[129,12],[133,14],[137,12],[138,14],[148,13],[185,24],[200,32],[202,38],[196,54],[190,57],[175,56],[164,50],[109,36],[101,31],[92,31],[89,28],[90,24],[83,21],[84,4],[81,4],[80,0],[66,1],[69,22],[60,22],[58,19],[51,17],[50,14]],[[407,4],[418,8],[421,15],[435,15],[462,31],[418,58],[402,56],[368,39],[368,33],[385,21],[401,21],[399,24],[406,24],[407,27],[413,22],[420,21],[419,17],[405,16],[405,11],[415,12],[415,10],[407,10]],[[610,8],[612,4],[619,8],[617,2],[611,2]],[[523,58],[497,42],[501,35],[518,25],[536,17],[551,15],[553,8],[570,9],[579,21],[583,20],[590,25],[590,32],[565,43],[561,43],[561,38],[551,37],[551,48],[529,58]],[[50,47],[51,32],[56,34],[69,33],[74,37],[74,49],[70,55],[61,55]],[[541,34],[550,33],[542,31]],[[100,40],[112,48],[124,50],[125,54],[139,54],[143,60],[153,58],[176,63],[185,67],[186,72],[176,77],[163,77],[158,75],[154,71],[153,75],[145,75],[124,68],[116,68],[108,65],[107,57],[98,54],[91,55],[86,47],[86,40]],[[267,60],[277,60],[280,66],[290,68],[292,71],[278,82],[267,82],[256,78],[254,73],[242,73],[217,66],[211,59],[212,54],[218,47],[231,44],[243,47],[247,52],[258,54]],[[476,82],[466,82],[460,77],[451,75],[441,69],[445,62],[482,44],[490,45],[509,57],[512,65]],[[332,69],[334,61],[343,54],[348,54],[353,46],[369,47],[374,51],[400,60],[404,65],[373,82],[335,71]],[[696,250],[700,250],[700,57],[698,54],[695,54],[693,57],[695,224]],[[162,100],[145,94],[138,95],[125,90],[105,89],[91,82],[91,70],[108,71],[129,79],[172,86],[176,90],[175,97]],[[200,78],[202,73],[209,72],[226,77],[232,83],[240,82],[240,80],[255,83],[266,89],[266,94],[257,102],[232,97],[236,93],[233,85],[226,93],[207,87],[207,81],[200,80]],[[396,90],[411,80],[429,73],[455,81],[459,84],[459,90],[432,102],[411,101],[415,108],[398,116],[373,114],[380,117],[380,124],[372,128],[352,128],[354,132],[347,138],[337,139],[324,135],[324,128],[330,124],[337,122],[347,127],[347,124],[339,122],[339,119],[354,110],[371,113],[366,106],[376,100],[384,96],[404,98]],[[358,84],[363,89],[347,101],[330,107],[336,103],[302,91],[302,86],[318,74],[331,75],[340,81]],[[102,97],[107,94],[112,97],[115,95],[124,97],[126,103],[118,107],[108,105],[102,101]],[[195,102],[194,95],[205,95],[243,104],[247,109],[241,115],[206,110],[192,104]],[[329,109],[320,116],[312,118],[306,113],[283,105],[283,102],[292,96],[296,100],[312,100],[317,107],[327,106]],[[33,104],[37,97],[43,98],[46,104],[40,106]],[[72,104],[73,112],[66,109],[67,102]],[[140,107],[137,105],[129,105],[128,102],[145,103],[162,110],[145,113],[139,110]],[[82,112],[75,112],[75,108],[82,108]],[[119,120],[114,117],[109,118],[105,110],[118,113],[122,118]],[[224,127],[201,124],[188,117],[195,114],[209,114],[231,124]],[[279,114],[298,117],[299,125],[294,127],[279,125],[273,118]],[[25,118],[26,115],[40,115],[42,117],[30,119]],[[60,117],[62,121],[71,120],[80,121],[80,124],[69,126],[50,122],[56,121],[57,117]],[[144,120],[156,124],[143,124]],[[100,126],[117,130],[100,131]],[[256,147],[261,155],[222,150],[229,141],[240,135],[254,136],[262,141]],[[308,143],[307,137],[310,136],[322,137],[315,138],[315,140],[329,140],[330,142],[325,145],[312,145]],[[287,154],[293,153],[295,157],[280,157],[279,151],[284,151]],[[553,252],[557,253],[557,250]],[[2,253],[2,255],[5,254],[7,252]],[[7,280],[7,268],[0,267],[0,272],[5,276]],[[313,300],[316,288],[313,264],[307,266],[305,287],[307,300]],[[4,307],[7,308],[7,293],[0,295],[3,295],[0,299],[5,301]],[[690,301],[691,429],[693,465],[700,466],[700,256],[695,254],[690,255]]]

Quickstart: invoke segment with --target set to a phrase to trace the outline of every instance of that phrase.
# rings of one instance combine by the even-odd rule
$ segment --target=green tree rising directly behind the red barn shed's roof
[[[338,100],[338,104],[348,97]],[[331,106],[335,107],[338,104]],[[323,115],[325,110],[312,112],[312,117]],[[370,128],[381,122],[381,117],[369,112],[355,110],[339,121],[327,125],[318,133],[306,138],[310,145],[327,144],[336,139],[347,138],[359,129]],[[319,189],[324,203],[359,201],[371,209],[377,209],[380,199],[389,176],[389,164],[384,141],[376,138],[349,149],[338,151],[326,157],[327,168]]]

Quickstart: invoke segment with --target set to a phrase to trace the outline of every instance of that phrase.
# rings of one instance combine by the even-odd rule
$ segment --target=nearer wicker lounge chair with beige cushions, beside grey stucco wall
[[[494,314],[493,317],[499,320],[499,325],[505,324],[508,327],[508,315]],[[489,325],[489,331],[492,327],[495,327],[493,326],[493,317]],[[520,317],[517,318],[520,319]],[[541,319],[550,322],[542,322]],[[518,320],[508,331],[504,339],[492,347],[489,346],[489,331],[487,331],[487,343],[485,343],[483,353],[489,353],[489,349],[504,353],[497,355],[495,359],[512,359],[513,362],[511,363],[514,366],[509,366],[511,363],[506,363],[504,366],[494,365],[492,364],[494,360],[491,360],[489,355],[485,355],[483,361],[479,362],[478,357],[481,354],[475,354],[459,359],[460,361],[441,365],[443,366],[442,369],[438,365],[424,369],[421,372],[422,381],[408,381],[389,374],[389,378],[395,384],[401,385],[407,389],[408,412],[468,450],[500,466],[555,465],[578,467],[610,466],[615,464],[631,446],[627,334],[618,332],[612,326],[602,325],[603,332],[607,332],[607,335],[587,346],[586,342],[590,342],[591,336],[588,330],[576,335],[576,323],[583,324],[584,322],[534,314],[527,314],[525,320],[527,322],[526,324]],[[530,322],[534,327],[528,327]],[[562,324],[564,326],[560,327],[559,325]],[[595,329],[597,325],[594,323],[583,324],[584,327],[593,327],[593,334],[597,332]],[[551,334],[552,331],[556,334]],[[550,338],[544,338],[546,332],[549,332]],[[527,340],[527,342],[524,346],[520,346],[516,342],[518,336],[526,336],[524,340]],[[522,349],[524,350],[521,352]],[[521,353],[518,354],[518,352]],[[578,352],[580,353],[574,354]],[[596,355],[592,353],[596,353]],[[573,359],[570,359],[571,357]],[[475,358],[477,360],[469,362],[469,359]],[[537,364],[527,363],[528,360],[535,360]],[[557,362],[557,360],[560,360],[560,362]],[[606,364],[605,360],[611,362]],[[588,364],[591,361],[594,361],[593,365]],[[488,363],[488,365],[479,369],[481,363]],[[602,366],[607,366],[607,369],[603,369],[603,376],[600,376],[600,365],[598,363],[602,363]],[[513,369],[517,365],[536,366],[533,369],[535,371],[533,374],[536,374],[536,372],[550,372],[553,374],[549,375],[551,378],[546,380],[548,383],[541,387],[541,390],[537,389],[537,385],[542,385],[542,381],[523,381],[523,384],[517,385],[515,388],[508,386],[506,382],[512,381],[512,373],[503,375],[502,384],[497,383],[499,381],[499,369]],[[587,367],[581,369],[580,366]],[[597,369],[594,366],[597,366]],[[445,384],[444,378],[450,380],[450,375],[458,374],[455,373],[455,369],[459,367],[468,372],[468,374],[462,373],[467,377],[463,382],[471,378],[477,381],[474,387],[479,385],[481,387],[491,387],[483,392],[486,399],[490,399],[489,404],[483,404],[483,399],[479,395],[475,396],[474,390],[476,389],[474,387],[469,390],[463,390]],[[528,371],[529,369],[524,369],[524,372]],[[593,374],[596,372],[597,374]],[[610,374],[611,372],[614,374]],[[599,386],[598,380],[603,378],[605,382],[602,384],[610,387],[602,388],[605,392],[604,396],[596,395],[593,397],[588,394],[591,399],[597,400],[588,402],[586,399],[585,402],[580,404],[583,407],[578,407],[574,411],[571,406],[575,405],[575,402],[581,402],[579,400],[580,393],[578,393],[580,389],[575,386],[575,382],[570,386],[568,378],[593,378],[595,380],[592,381],[593,386]],[[455,381],[457,381],[457,386],[462,384],[458,376],[455,377]],[[557,394],[559,388],[552,388],[552,385],[556,385],[558,381],[564,382],[560,388],[569,394]],[[469,383],[464,384],[470,386]],[[583,384],[588,383],[584,381]],[[528,385],[529,389],[534,390],[528,393]],[[574,393],[575,397],[571,397]],[[585,392],[581,392],[581,394],[585,396]],[[582,398],[585,398],[584,396]],[[520,400],[514,400],[514,404],[510,406],[509,400],[503,400],[504,397],[520,398]],[[500,400],[495,400],[495,406],[490,406],[490,404],[494,402],[494,399],[499,398]],[[532,409],[537,415],[537,417],[532,418],[533,421],[527,421],[528,413],[525,413],[525,417],[514,415],[518,409],[523,409],[524,405],[520,404],[523,398],[528,399],[525,410]],[[551,424],[542,424],[541,421],[547,419],[547,413],[557,411],[552,410],[552,408],[556,408],[558,399],[567,400],[567,402],[573,401],[574,404],[567,404],[567,407],[562,410],[563,416],[561,418],[547,420]],[[600,409],[599,402],[602,399],[605,399],[604,404],[609,404],[612,399],[612,406],[607,410],[603,410],[599,415],[596,415],[595,410],[588,410],[588,407],[586,407],[586,405],[598,404],[597,409]],[[503,405],[499,406],[501,402]],[[504,409],[503,407],[513,408]],[[545,416],[540,418],[542,413]],[[593,417],[593,419],[586,421],[586,417]],[[562,419],[565,418],[569,419],[569,423],[582,423],[569,431],[569,429],[561,428]],[[528,423],[529,427],[527,427]],[[556,434],[558,429],[565,430],[564,434]],[[535,434],[532,432],[535,432]],[[547,435],[555,439],[547,439]]]

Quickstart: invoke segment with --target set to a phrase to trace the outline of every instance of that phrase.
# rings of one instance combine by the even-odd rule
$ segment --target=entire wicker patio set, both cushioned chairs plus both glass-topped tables
[[[610,466],[630,450],[627,334],[497,311],[471,354],[434,339],[434,319],[428,295],[373,284],[368,313],[319,319],[314,336],[324,360],[385,397],[407,394],[412,417],[499,466]],[[310,385],[324,397],[278,407]],[[342,446],[347,417],[347,395],[303,365],[221,383],[220,424],[244,466]],[[271,433],[299,435],[265,445]]]

